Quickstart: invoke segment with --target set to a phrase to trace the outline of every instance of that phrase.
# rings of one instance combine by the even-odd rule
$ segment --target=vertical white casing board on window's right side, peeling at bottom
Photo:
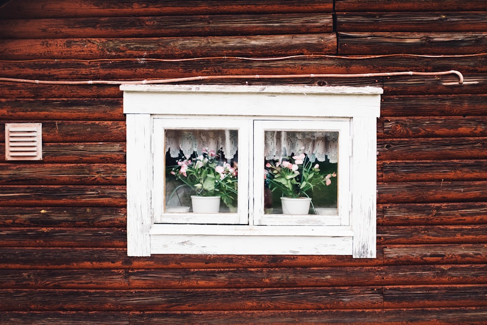
[[[353,120],[352,211],[355,258],[375,258],[376,241],[376,118]]]

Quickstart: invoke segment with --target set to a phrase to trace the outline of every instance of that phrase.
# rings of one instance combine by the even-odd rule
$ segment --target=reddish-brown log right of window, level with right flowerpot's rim
[[[486,202],[487,181],[378,183],[378,203]]]

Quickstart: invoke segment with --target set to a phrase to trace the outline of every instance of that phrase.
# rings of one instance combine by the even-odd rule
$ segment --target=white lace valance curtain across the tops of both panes
[[[265,132],[265,159],[279,160],[291,153],[315,155],[318,161],[326,157],[331,163],[338,160],[338,132]],[[237,130],[166,130],[166,148],[171,157],[179,156],[180,151],[187,157],[196,152],[222,149],[227,159],[231,159],[238,150]]]

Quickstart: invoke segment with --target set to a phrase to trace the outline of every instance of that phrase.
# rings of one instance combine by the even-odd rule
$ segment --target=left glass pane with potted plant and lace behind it
[[[165,130],[165,211],[237,212],[238,130]]]

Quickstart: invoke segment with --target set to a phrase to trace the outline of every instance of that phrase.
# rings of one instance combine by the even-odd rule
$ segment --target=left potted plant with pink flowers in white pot
[[[233,208],[238,193],[237,167],[220,161],[214,150],[206,148],[194,159],[179,160],[170,173],[194,191],[193,212],[219,212],[220,199]]]

